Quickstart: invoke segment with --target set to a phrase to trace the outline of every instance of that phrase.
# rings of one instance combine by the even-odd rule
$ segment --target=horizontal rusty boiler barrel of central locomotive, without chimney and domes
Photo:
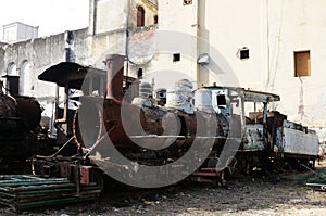
[[[197,137],[215,139],[215,147],[222,147],[225,141],[217,137],[225,136],[227,122],[224,116],[215,113],[199,111],[187,114],[160,106],[121,104],[110,99],[104,102],[96,98],[85,99],[78,110],[79,117],[83,117],[75,116],[74,136],[77,143],[86,149],[91,149],[105,134],[122,152],[139,151],[138,145],[162,149],[160,147],[166,145],[164,139],[173,137],[178,149],[191,147]],[[105,150],[106,144],[97,147],[97,152],[103,158],[110,157],[110,152]]]

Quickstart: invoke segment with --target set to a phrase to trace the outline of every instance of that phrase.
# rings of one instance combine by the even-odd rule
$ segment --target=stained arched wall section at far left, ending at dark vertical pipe
[[[3,52],[3,62],[1,62],[2,75],[8,73],[10,65],[16,66],[16,75],[20,75],[21,66],[27,61],[29,63],[28,76],[30,84],[26,94],[42,98],[53,94],[53,90],[49,84],[39,81],[37,76],[42,73],[49,65],[64,61],[64,34],[57,36],[37,38],[13,45],[1,47]],[[21,80],[24,81],[24,80]],[[25,94],[25,92],[23,92]]]

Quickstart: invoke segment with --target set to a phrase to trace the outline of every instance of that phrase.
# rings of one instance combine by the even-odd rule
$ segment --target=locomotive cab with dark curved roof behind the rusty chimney
[[[105,97],[106,72],[73,62],[62,62],[46,69],[38,78],[57,84],[53,120],[57,128],[57,142],[64,143],[74,136],[73,122],[80,99]],[[131,77],[125,77],[125,87],[134,80]]]

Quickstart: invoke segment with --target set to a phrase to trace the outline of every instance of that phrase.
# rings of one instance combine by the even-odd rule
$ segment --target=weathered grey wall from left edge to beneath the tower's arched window
[[[55,96],[55,85],[38,80],[38,75],[50,66],[66,61],[65,48],[70,47],[75,53],[75,62],[82,65],[92,65],[103,68],[105,55],[110,53],[125,54],[125,30],[89,36],[88,29],[73,30],[74,42],[66,43],[67,33],[45,38],[22,41],[0,47],[0,72],[5,75],[10,68],[16,67],[15,75],[28,63],[27,76],[21,77],[24,86],[23,94],[32,96],[40,101],[49,102]],[[25,79],[24,79],[25,77]],[[28,78],[28,80],[26,80]]]

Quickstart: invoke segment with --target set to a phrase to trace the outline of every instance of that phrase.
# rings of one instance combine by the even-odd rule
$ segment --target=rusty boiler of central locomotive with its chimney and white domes
[[[222,114],[204,112],[199,105],[195,111],[189,80],[175,84],[175,89],[167,92],[165,106],[158,105],[148,82],[140,84],[138,97],[128,103],[123,93],[123,56],[109,56],[104,100],[82,97],[73,123],[78,144],[89,149],[108,134],[114,147],[128,158],[160,164],[178,158],[197,136],[205,136],[216,138],[213,150],[220,154],[228,131],[227,119]],[[103,158],[110,157],[110,152],[98,152]]]

